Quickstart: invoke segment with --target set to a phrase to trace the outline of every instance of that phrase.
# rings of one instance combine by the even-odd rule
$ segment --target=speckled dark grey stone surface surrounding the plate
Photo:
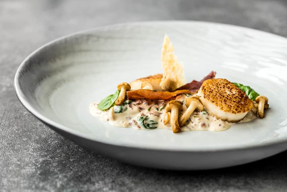
[[[44,126],[18,101],[15,72],[57,37],[119,22],[203,20],[287,37],[287,1],[0,1],[0,191],[287,191],[287,152],[211,171],[166,171],[94,154]]]

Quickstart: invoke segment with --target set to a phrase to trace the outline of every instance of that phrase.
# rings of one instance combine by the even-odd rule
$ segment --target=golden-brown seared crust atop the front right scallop
[[[228,113],[245,113],[250,111],[254,104],[245,92],[236,87],[227,79],[207,79],[201,85],[203,97],[220,110]]]

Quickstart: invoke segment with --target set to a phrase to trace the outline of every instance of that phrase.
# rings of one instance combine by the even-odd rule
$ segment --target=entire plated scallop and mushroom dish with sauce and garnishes
[[[224,131],[235,123],[263,118],[268,98],[249,86],[215,79],[185,83],[183,66],[168,36],[161,54],[162,74],[121,82],[116,92],[90,104],[90,113],[118,127],[181,131]]]

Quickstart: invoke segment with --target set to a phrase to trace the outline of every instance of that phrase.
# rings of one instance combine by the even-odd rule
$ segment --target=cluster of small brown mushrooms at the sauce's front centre
[[[172,131],[174,133],[179,132],[181,127],[185,124],[187,119],[190,117],[190,115],[193,113],[193,111],[203,111],[204,106],[201,103],[198,96],[191,96],[186,98],[186,104],[187,110],[181,115],[179,118],[179,111],[182,111],[182,103],[178,100],[171,100],[167,107],[166,107],[166,113],[164,115],[164,125],[168,124],[170,121]]]

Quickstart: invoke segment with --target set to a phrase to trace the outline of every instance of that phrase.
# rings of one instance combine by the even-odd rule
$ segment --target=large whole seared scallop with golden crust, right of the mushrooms
[[[198,96],[208,113],[228,122],[240,121],[254,106],[245,92],[227,79],[203,81]]]

